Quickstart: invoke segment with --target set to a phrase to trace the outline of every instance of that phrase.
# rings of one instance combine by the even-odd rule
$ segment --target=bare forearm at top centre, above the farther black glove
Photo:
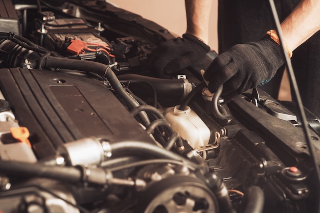
[[[209,41],[209,19],[212,0],[185,0],[187,31],[204,43]]]

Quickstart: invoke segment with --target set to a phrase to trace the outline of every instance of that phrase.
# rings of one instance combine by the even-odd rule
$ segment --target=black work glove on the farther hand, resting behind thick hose
[[[190,34],[170,39],[152,51],[148,62],[149,70],[157,76],[170,78],[182,69],[204,63],[210,47]]]

